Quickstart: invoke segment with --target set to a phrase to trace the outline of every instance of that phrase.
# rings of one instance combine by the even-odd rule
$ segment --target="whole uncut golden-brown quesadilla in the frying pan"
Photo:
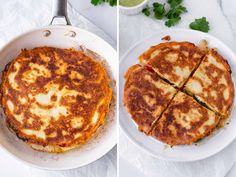
[[[70,149],[103,124],[112,99],[104,67],[74,49],[22,50],[4,71],[1,104],[17,136]]]

